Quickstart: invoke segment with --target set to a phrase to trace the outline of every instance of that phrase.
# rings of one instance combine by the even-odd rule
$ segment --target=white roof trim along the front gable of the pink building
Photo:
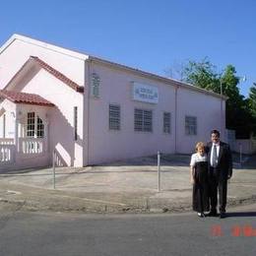
[[[63,47],[59,47],[47,42],[43,42],[43,41],[39,41],[36,39],[32,39],[31,37],[25,36],[25,35],[21,35],[18,33],[14,33],[1,47],[0,47],[0,54],[9,47],[10,44],[12,44],[15,40],[21,40],[21,41],[25,41],[27,43],[31,43],[37,46],[40,46],[42,48],[47,48],[50,49],[52,51],[56,51],[56,52],[60,52],[62,54],[65,55],[69,55],[72,56],[74,58],[78,58],[81,60],[86,60],[89,58],[89,55],[83,54],[83,53],[79,53],[77,51],[73,51],[73,50],[69,50]]]

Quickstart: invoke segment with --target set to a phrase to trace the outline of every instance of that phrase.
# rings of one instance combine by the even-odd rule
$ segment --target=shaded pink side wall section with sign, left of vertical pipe
[[[90,97],[89,164],[174,152],[174,88],[141,76],[93,63],[100,78],[99,98]],[[131,82],[158,87],[159,103],[132,99]],[[109,103],[121,107],[121,129],[108,129]],[[134,109],[153,110],[153,132],[134,131]],[[162,132],[163,112],[171,113],[171,133]]]

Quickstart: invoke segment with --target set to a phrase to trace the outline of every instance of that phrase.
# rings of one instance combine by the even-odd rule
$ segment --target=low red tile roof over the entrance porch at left
[[[0,90],[0,97],[7,98],[14,103],[24,103],[32,105],[44,105],[44,106],[54,106],[53,103],[43,98],[42,96],[37,96],[33,94],[18,93],[13,91]]]

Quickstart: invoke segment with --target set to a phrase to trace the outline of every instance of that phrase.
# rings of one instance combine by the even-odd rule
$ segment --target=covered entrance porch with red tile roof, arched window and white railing
[[[0,97],[0,169],[48,165],[54,104],[26,93],[0,91]]]

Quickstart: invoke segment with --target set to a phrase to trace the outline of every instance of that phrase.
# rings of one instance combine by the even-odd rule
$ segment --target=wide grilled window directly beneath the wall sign
[[[134,131],[152,132],[152,110],[134,109]]]

